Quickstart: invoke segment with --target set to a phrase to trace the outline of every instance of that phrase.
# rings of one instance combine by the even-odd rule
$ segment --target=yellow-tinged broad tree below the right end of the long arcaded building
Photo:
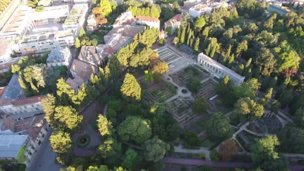
[[[253,120],[260,118],[264,114],[264,107],[249,97],[243,97],[236,101],[233,112],[238,114],[240,118],[246,116],[250,120]]]

